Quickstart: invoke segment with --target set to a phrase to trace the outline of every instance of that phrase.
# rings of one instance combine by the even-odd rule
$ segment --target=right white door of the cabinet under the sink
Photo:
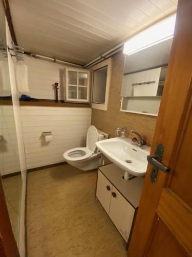
[[[126,242],[130,235],[134,212],[135,209],[113,187],[109,216]]]

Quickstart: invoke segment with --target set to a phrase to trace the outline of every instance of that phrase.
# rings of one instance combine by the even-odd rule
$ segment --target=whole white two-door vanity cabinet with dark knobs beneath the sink
[[[100,167],[96,198],[125,242],[130,242],[144,179],[135,177],[125,181],[123,175],[124,171],[113,163]]]

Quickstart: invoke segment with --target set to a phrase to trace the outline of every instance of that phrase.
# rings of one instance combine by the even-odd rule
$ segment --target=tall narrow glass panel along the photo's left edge
[[[15,240],[18,238],[22,177],[6,55],[5,13],[0,2],[0,175]]]

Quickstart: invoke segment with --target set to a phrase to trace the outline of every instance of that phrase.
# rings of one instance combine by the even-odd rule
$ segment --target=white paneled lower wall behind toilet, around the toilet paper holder
[[[86,146],[91,108],[21,106],[27,169],[65,161],[63,153]],[[51,131],[52,142],[42,132]]]

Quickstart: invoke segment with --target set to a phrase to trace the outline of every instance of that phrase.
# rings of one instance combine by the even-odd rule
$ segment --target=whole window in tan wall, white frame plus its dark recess
[[[111,58],[92,67],[92,108],[108,109],[111,82]]]

